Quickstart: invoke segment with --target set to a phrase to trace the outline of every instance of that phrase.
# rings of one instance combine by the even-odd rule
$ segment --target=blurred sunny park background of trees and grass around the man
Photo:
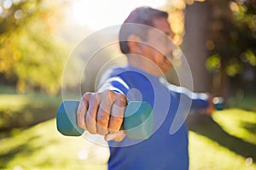
[[[143,5],[170,14],[194,90],[224,97],[224,110],[188,119],[190,169],[256,169],[256,0],[0,0],[0,169],[107,168],[108,148],[56,131],[63,70],[79,42]],[[117,55],[99,53],[82,87],[69,71],[67,91],[95,90],[106,61],[125,64]]]

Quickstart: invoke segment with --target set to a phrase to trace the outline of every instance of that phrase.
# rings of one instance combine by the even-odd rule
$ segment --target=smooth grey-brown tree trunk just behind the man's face
[[[195,92],[210,90],[210,76],[205,65],[209,15],[210,6],[207,2],[195,2],[185,8],[183,54],[189,62]]]

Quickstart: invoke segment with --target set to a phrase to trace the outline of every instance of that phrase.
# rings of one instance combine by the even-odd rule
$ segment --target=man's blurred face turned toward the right
[[[147,40],[144,41],[143,56],[151,59],[164,73],[172,71],[172,50],[175,48],[174,36],[169,22],[165,18],[154,19],[154,27],[149,29]]]

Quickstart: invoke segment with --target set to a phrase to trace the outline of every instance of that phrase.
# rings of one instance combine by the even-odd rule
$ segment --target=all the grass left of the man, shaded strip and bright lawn
[[[108,148],[57,132],[51,118],[60,103],[60,97],[0,86],[0,169],[107,168]]]

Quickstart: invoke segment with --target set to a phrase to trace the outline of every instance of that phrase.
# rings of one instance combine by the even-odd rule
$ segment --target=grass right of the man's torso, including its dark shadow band
[[[256,112],[229,109],[190,127],[191,169],[256,169]]]

